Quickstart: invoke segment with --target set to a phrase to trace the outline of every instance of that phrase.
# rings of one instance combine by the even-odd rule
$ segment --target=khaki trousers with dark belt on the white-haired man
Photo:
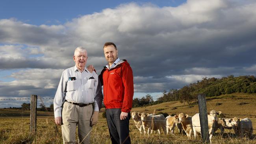
[[[76,143],[76,126],[78,125],[79,144],[89,144],[91,137],[90,119],[93,113],[93,106],[79,107],[69,102],[65,102],[62,110],[61,126],[63,143]]]

